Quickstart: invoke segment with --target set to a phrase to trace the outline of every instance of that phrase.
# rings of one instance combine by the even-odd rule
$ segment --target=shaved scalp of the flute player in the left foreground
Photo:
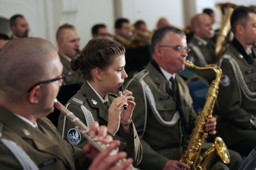
[[[0,92],[21,95],[53,72],[55,47],[44,39],[21,38],[6,43],[0,51]]]

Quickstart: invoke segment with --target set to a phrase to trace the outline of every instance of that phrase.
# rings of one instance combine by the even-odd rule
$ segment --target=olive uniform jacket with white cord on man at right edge
[[[252,51],[256,54],[255,49]],[[250,129],[250,119],[256,116],[256,60],[249,60],[252,64],[230,45],[220,61],[223,78],[218,94],[220,116],[217,125],[227,145],[256,135],[256,131]]]

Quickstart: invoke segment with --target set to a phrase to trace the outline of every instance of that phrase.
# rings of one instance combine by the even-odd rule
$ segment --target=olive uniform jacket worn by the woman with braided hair
[[[110,106],[116,97],[115,94],[108,95],[108,106]],[[81,90],[78,90],[68,101],[66,107],[87,126],[92,121],[98,121],[100,125],[108,125],[108,107],[101,102],[100,98],[87,82],[83,83]],[[87,143],[86,138],[82,135],[80,139],[77,139],[78,142],[72,142],[72,139],[70,140],[68,137],[70,136],[70,131],[72,131],[70,129],[74,129],[74,123],[68,120],[63,113],[60,113],[58,130],[62,134],[62,137],[80,148]],[[134,159],[134,166],[136,166],[142,159],[142,146],[134,124],[132,123],[132,133],[127,133],[120,127],[113,138],[121,142],[119,151],[123,150],[127,152],[128,156]]]

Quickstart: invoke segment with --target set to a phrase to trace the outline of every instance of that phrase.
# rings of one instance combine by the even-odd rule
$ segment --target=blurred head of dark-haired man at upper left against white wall
[[[16,14],[10,18],[10,27],[12,29],[11,39],[28,37],[29,26],[26,18],[21,14]]]

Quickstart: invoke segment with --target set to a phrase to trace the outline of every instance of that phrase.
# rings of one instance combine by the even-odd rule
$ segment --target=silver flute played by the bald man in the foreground
[[[70,119],[70,121],[72,121],[74,123],[75,128],[80,131],[80,133],[82,133],[82,135],[96,148],[98,149],[100,152],[104,149],[106,149],[109,145],[105,145],[104,143],[98,141],[98,137],[94,136],[94,135],[89,135],[89,127],[87,127],[78,117],[76,117],[76,115],[74,115],[74,113],[72,113],[71,111],[69,111],[65,106],[63,106],[57,99],[54,100],[54,106],[59,109],[62,113],[64,113],[64,115],[66,115],[66,117],[68,117],[68,119]],[[114,149],[110,152],[110,156],[116,155],[117,154],[117,150]],[[120,165],[122,162],[126,161],[126,158],[123,158],[121,160],[119,160],[118,162],[116,162],[116,165]],[[132,164],[130,164],[130,167],[132,168],[132,170],[138,170],[138,168],[134,168],[132,166]]]

